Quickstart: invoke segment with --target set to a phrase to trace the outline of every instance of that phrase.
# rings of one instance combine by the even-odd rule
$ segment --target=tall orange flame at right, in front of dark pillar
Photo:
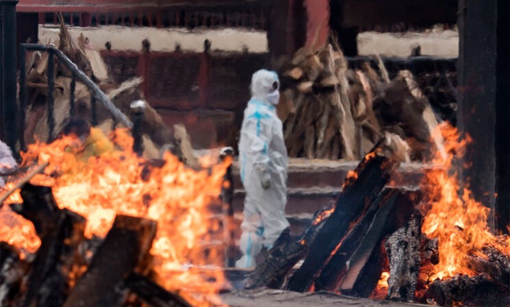
[[[489,208],[474,200],[468,186],[461,187],[457,180],[452,164],[455,157],[463,156],[470,137],[461,140],[457,129],[448,124],[438,125],[435,133],[443,136],[446,155],[437,152],[433,163],[440,167],[426,172],[423,186],[428,203],[422,208],[422,232],[429,238],[439,239],[439,263],[434,266],[429,281],[459,273],[473,275],[467,267],[466,256],[485,244],[510,254],[510,238],[501,240],[489,232]]]

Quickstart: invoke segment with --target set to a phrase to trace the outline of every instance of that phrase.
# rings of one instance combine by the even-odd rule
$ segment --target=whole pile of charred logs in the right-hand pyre
[[[391,140],[391,138],[390,138]],[[439,241],[422,234],[420,191],[385,187],[398,164],[398,147],[380,140],[339,196],[316,212],[297,240],[284,233],[245,288],[269,286],[291,291],[333,291],[369,297],[389,271],[386,299],[440,306],[508,306],[510,255],[485,245],[466,255],[476,275],[428,282],[439,263]],[[507,242],[500,237],[501,242]],[[295,265],[303,260],[294,272]],[[487,302],[487,304],[486,304]]]

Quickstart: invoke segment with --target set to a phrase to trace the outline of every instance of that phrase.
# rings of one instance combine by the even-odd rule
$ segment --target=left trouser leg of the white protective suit
[[[264,228],[260,221],[260,212],[258,212],[256,197],[248,191],[246,191],[243,214],[244,218],[241,224],[243,233],[241,234],[241,241],[239,243],[239,249],[241,249],[243,256],[236,261],[236,267],[250,268],[255,267],[255,256],[257,256],[262,249]]]

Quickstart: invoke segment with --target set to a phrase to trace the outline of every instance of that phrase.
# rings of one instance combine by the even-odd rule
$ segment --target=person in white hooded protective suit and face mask
[[[280,99],[278,75],[260,70],[252,77],[252,99],[244,112],[239,140],[241,181],[246,191],[238,268],[255,266],[263,247],[270,249],[283,230],[287,204],[287,149],[275,106]]]

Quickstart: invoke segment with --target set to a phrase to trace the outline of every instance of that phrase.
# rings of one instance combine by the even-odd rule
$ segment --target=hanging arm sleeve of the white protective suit
[[[245,133],[249,138],[249,146],[247,153],[252,157],[254,169],[261,178],[269,177],[269,156],[267,150],[271,142],[271,119],[260,119],[260,114],[250,116],[245,124]]]

